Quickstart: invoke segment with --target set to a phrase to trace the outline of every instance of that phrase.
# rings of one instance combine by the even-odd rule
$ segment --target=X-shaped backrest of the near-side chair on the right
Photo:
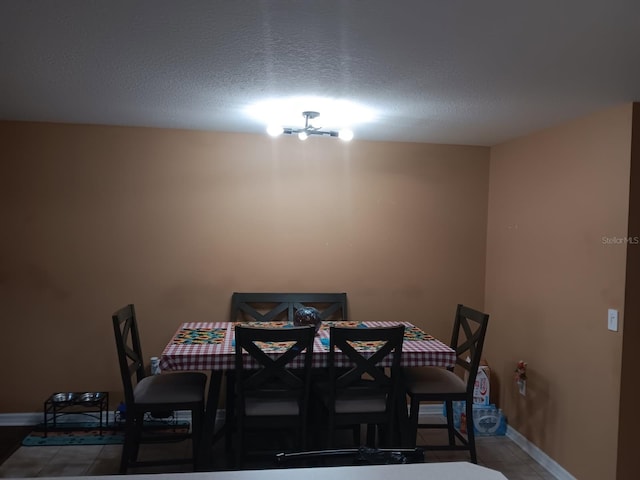
[[[385,393],[387,408],[394,408],[400,384],[404,325],[331,327],[329,336],[331,404],[334,404],[336,395],[357,388],[359,394],[364,390]]]

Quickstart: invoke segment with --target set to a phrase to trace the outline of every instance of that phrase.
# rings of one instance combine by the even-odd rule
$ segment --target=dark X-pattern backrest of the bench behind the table
[[[302,307],[314,307],[322,320],[347,320],[346,293],[240,293],[231,296],[230,321],[288,321]]]

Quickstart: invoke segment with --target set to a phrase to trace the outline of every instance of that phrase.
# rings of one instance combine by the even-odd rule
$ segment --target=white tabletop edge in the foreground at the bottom
[[[121,475],[40,477],[50,480],[122,480]],[[363,465],[348,467],[278,468],[222,472],[127,475],[127,480],[507,480],[502,473],[468,462]]]

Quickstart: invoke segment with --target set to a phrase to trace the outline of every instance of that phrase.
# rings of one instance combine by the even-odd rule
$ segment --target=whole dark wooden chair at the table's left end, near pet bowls
[[[119,309],[112,315],[112,320],[126,407],[120,473],[126,473],[129,467],[180,463],[193,463],[196,469],[207,376],[199,372],[146,375],[134,306],[130,304]],[[146,414],[177,410],[191,412],[189,433],[159,435],[156,432],[147,435]],[[142,443],[175,442],[187,438],[190,438],[193,444],[191,458],[138,461],[139,446]]]

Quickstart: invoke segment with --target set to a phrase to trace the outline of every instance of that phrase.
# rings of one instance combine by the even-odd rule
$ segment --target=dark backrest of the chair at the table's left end
[[[113,332],[118,350],[120,376],[124,387],[124,398],[127,405],[133,405],[133,386],[145,377],[144,357],[140,346],[140,335],[136,320],[135,308],[132,304],[122,307],[111,316]]]

